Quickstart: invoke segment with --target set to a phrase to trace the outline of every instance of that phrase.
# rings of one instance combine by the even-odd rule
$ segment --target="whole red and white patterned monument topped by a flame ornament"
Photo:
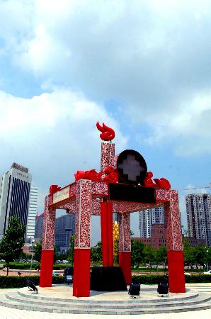
[[[131,283],[130,213],[164,206],[169,291],[186,292],[178,192],[167,179],[152,180],[142,155],[125,150],[115,157],[115,132],[104,123],[101,131],[101,172],[78,171],[75,181],[50,186],[45,198],[40,286],[52,286],[56,209],[75,213],[73,296],[90,296],[91,215],[101,216],[103,267],[113,267],[113,212],[119,213],[119,265]],[[110,141],[110,142],[108,142]]]

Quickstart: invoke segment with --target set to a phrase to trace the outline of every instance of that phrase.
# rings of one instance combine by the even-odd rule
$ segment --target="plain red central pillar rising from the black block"
[[[101,203],[103,267],[113,267],[113,204]]]

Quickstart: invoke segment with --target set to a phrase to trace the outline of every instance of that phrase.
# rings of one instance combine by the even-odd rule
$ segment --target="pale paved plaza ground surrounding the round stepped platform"
[[[211,295],[211,283],[210,284],[187,284],[187,289],[193,289],[194,291],[203,292],[207,295]],[[11,291],[16,291],[17,289],[0,289],[0,294]],[[44,293],[44,291],[43,291]],[[44,293],[45,295],[45,293]],[[100,298],[100,297],[99,297]],[[59,318],[59,319],[79,319],[79,318],[115,318],[115,319],[128,319],[131,318],[131,315],[89,315],[89,314],[72,314],[72,313],[45,313],[39,311],[30,311],[30,310],[19,310],[16,308],[7,308],[0,306],[0,319],[18,319],[18,318]],[[145,319],[210,319],[211,318],[211,309],[209,310],[196,310],[196,311],[188,311],[182,313],[156,313],[156,314],[144,314],[144,315],[132,315],[132,318],[145,318]]]

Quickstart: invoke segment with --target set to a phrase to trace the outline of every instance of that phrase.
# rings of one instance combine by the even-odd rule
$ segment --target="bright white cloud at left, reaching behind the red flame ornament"
[[[50,184],[72,183],[77,170],[100,170],[97,121],[115,130],[116,152],[127,143],[115,118],[103,106],[67,89],[57,88],[32,99],[1,91],[0,101],[0,142],[4,154],[1,171],[8,170],[12,162],[23,164],[42,194],[47,193]]]

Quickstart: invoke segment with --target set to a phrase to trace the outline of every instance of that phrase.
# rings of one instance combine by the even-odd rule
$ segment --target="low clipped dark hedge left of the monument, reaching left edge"
[[[35,286],[39,285],[40,276],[0,276],[0,288],[25,287],[25,280],[30,279]],[[52,284],[64,284],[63,276],[53,276]]]

